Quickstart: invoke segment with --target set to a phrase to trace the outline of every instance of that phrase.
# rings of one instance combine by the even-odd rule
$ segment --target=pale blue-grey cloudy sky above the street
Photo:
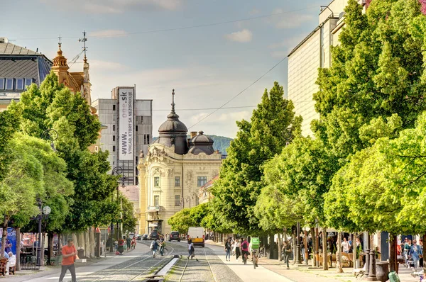
[[[318,25],[320,5],[329,1],[1,0],[0,37],[53,59],[61,36],[70,71],[80,72],[82,56],[70,62],[85,30],[92,101],[136,84],[136,98],[153,100],[157,136],[175,89],[188,130],[236,137],[236,120],[251,117],[264,89],[274,81],[286,89],[283,59]]]

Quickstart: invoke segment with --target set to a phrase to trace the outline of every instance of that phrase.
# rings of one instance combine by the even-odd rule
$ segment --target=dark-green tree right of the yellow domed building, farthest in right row
[[[263,164],[300,135],[301,118],[295,117],[293,103],[283,95],[283,87],[275,82],[269,93],[265,90],[251,121],[237,122],[239,132],[212,188],[212,206],[234,232],[261,231],[254,206],[261,193]]]

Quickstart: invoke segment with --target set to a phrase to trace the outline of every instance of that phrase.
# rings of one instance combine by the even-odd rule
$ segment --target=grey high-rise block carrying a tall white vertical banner
[[[100,147],[109,151],[111,168],[120,167],[126,185],[137,185],[138,156],[148,153],[153,140],[152,100],[136,99],[136,86],[119,86],[110,99],[92,103],[102,130]],[[119,171],[120,172],[120,171]]]

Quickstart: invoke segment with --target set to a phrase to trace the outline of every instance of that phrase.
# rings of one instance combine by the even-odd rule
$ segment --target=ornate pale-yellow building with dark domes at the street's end
[[[214,151],[212,138],[191,132],[172,111],[158,129],[159,137],[139,158],[139,233],[170,233],[168,219],[182,208],[199,204],[200,187],[219,174],[222,153]]]

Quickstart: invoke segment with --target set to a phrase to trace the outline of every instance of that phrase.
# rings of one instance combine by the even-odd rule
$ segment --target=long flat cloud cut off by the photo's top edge
[[[84,13],[124,13],[125,11],[174,11],[182,0],[40,0],[41,3],[64,11]]]

